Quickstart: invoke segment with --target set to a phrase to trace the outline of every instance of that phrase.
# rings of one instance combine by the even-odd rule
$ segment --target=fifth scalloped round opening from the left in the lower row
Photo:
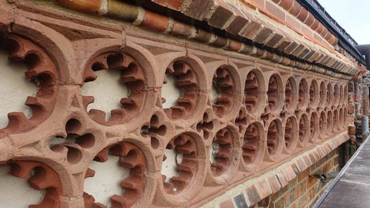
[[[254,123],[247,127],[243,140],[243,160],[245,164],[253,164],[258,155],[260,147],[260,131]]]

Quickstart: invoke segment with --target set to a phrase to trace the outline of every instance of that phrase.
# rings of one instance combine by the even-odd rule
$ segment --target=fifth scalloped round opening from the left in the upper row
[[[253,71],[249,72],[247,75],[247,79],[245,80],[245,107],[247,111],[251,114],[256,112],[258,109],[258,105],[261,102],[261,94],[260,94],[260,82],[258,81],[256,73]]]

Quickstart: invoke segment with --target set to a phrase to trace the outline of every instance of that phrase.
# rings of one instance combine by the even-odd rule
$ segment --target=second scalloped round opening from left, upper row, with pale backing
[[[143,68],[125,53],[95,57],[84,73],[82,94],[90,118],[103,125],[117,125],[138,116],[145,101]]]

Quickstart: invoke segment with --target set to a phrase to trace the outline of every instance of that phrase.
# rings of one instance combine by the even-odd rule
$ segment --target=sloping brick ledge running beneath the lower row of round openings
[[[347,140],[349,140],[347,131],[338,133],[325,142],[317,144],[309,151],[291,159],[291,161],[262,174],[260,177],[249,179],[225,192],[219,192],[219,194],[212,196],[212,200],[204,198],[191,207],[218,207],[221,203],[225,203],[228,199],[236,196],[243,196],[248,206],[254,205],[263,198],[278,192],[290,181],[293,181],[301,172],[304,172],[312,164],[317,163],[317,161]],[[206,201],[208,203],[204,204]],[[234,205],[234,207],[236,206]]]

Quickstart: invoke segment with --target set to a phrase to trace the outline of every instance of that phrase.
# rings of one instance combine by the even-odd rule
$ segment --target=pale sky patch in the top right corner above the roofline
[[[370,0],[317,1],[358,44],[370,44]]]

